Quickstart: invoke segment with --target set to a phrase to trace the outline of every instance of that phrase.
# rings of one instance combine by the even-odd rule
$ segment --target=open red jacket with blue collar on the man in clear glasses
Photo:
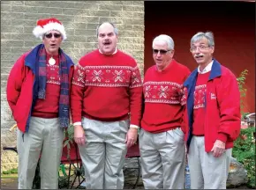
[[[192,140],[193,93],[198,76],[194,69],[184,82],[187,95],[188,133],[185,136],[187,150]],[[240,91],[237,77],[214,59],[206,91],[205,150],[210,152],[216,140],[226,143],[226,149],[233,147],[233,142],[240,133]]]

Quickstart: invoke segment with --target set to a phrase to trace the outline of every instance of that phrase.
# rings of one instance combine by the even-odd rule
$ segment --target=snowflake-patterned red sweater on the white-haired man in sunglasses
[[[162,71],[158,71],[155,65],[147,69],[143,83],[145,110],[141,128],[160,133],[181,127],[185,133],[182,86],[189,74],[190,70],[175,60]]]

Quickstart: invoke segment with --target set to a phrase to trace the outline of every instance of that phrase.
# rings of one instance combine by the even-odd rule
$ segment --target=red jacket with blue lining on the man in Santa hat
[[[11,108],[14,120],[20,131],[27,132],[29,118],[32,113],[32,102],[34,101],[34,70],[35,64],[31,62],[29,54],[31,51],[21,55],[13,65],[6,85],[7,102]],[[65,55],[69,62],[72,62],[68,55]],[[73,65],[69,65],[69,84],[73,74]]]

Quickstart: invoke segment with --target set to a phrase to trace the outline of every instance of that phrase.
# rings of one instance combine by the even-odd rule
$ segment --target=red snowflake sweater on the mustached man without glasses
[[[139,126],[142,84],[135,60],[117,50],[103,55],[94,50],[83,56],[72,79],[72,121],[87,117],[98,121],[122,121],[129,118]]]

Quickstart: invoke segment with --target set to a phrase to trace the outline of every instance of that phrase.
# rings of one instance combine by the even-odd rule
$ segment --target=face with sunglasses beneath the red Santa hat
[[[58,48],[60,48],[62,40],[63,38],[61,33],[55,30],[49,31],[49,33],[45,33],[42,38],[44,47],[49,55],[58,54]]]

